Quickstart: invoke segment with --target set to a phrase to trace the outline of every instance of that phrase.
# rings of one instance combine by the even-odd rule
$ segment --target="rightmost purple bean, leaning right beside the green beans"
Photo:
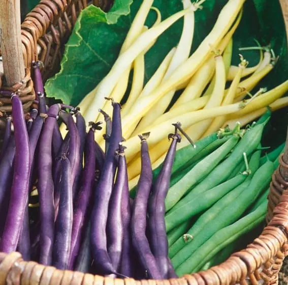
[[[169,278],[168,240],[165,226],[165,197],[169,190],[176,146],[177,143],[181,141],[181,136],[177,133],[177,128],[175,128],[175,134],[170,134],[168,137],[172,138],[172,143],[163,162],[162,169],[152,185],[151,196],[148,202],[148,225],[151,233],[150,245],[161,274],[165,279]]]

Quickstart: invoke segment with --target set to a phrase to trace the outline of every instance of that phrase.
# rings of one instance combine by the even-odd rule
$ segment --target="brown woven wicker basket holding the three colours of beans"
[[[286,32],[288,35],[288,1],[280,0]],[[109,9],[109,1],[95,5]],[[22,101],[26,109],[32,104],[35,94],[29,78],[30,62],[40,60],[44,63],[44,78],[54,74],[59,68],[63,44],[68,39],[72,27],[81,9],[87,6],[86,0],[41,0],[22,23],[22,44],[26,66],[26,84],[28,90],[21,91]],[[37,44],[41,47],[39,53]],[[39,54],[38,54],[39,53]],[[30,84],[30,85],[29,85]],[[32,88],[31,88],[32,86]],[[17,90],[18,86],[10,88]],[[27,97],[27,96],[30,97]],[[1,110],[8,110],[8,97],[2,95]],[[1,104],[0,104],[1,105]],[[268,225],[262,234],[251,244],[239,252],[233,253],[224,263],[203,272],[184,275],[178,279],[142,280],[112,279],[98,275],[83,274],[73,271],[57,270],[54,267],[43,266],[36,262],[25,262],[21,254],[0,253],[0,284],[97,284],[97,285],[206,285],[206,284],[277,284],[278,272],[282,261],[288,255],[288,151],[280,159],[280,166],[275,171],[270,185],[269,206],[267,214]]]

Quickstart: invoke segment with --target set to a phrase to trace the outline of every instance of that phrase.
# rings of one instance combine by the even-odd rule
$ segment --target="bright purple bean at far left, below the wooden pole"
[[[11,100],[16,151],[10,203],[0,242],[0,250],[8,253],[15,251],[18,244],[30,175],[29,139],[22,102],[16,94],[12,95]]]

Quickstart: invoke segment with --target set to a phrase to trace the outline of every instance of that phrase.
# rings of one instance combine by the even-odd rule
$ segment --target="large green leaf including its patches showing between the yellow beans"
[[[219,10],[227,0],[206,1],[203,10],[196,12],[194,51],[212,29]],[[109,72],[117,59],[121,45],[131,26],[142,0],[116,0],[108,13],[89,6],[80,14],[73,34],[66,45],[61,70],[45,85],[49,97],[61,99],[67,104],[78,104]],[[182,9],[181,0],[155,0],[153,6],[162,19]],[[131,10],[131,11],[130,11]],[[146,23],[151,26],[156,14],[150,11]],[[145,55],[145,80],[147,81],[170,49],[177,45],[183,26],[178,20],[163,33]]]

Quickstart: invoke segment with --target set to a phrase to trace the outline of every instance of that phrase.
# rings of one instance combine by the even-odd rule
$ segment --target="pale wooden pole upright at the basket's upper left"
[[[0,38],[7,86],[25,76],[21,44],[20,0],[0,0]]]

